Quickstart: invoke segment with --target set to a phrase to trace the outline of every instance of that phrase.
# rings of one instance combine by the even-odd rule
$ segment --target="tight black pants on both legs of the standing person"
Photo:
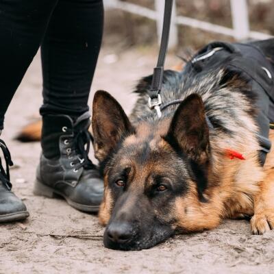
[[[40,45],[40,113],[86,112],[102,32],[102,0],[0,0],[0,129]]]

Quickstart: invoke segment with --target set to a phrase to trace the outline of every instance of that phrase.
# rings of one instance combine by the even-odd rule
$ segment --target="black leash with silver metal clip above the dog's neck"
[[[169,29],[171,27],[172,6],[173,0],[165,0],[164,23],[162,27],[160,51],[157,66],[153,70],[151,89],[149,90],[149,108],[151,110],[155,109],[158,117],[161,116],[160,105],[162,104],[162,99],[160,92],[164,75],[164,60],[166,58],[166,50],[169,45]]]

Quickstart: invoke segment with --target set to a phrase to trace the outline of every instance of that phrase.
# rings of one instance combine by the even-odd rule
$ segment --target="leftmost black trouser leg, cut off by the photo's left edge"
[[[58,0],[0,1],[0,129]]]

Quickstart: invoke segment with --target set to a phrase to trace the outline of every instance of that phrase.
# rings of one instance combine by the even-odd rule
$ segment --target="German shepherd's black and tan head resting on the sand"
[[[199,95],[190,95],[175,114],[135,127],[108,92],[93,101],[95,157],[105,195],[99,219],[107,225],[105,247],[138,250],[175,232],[208,228],[201,203],[210,177],[208,125]]]

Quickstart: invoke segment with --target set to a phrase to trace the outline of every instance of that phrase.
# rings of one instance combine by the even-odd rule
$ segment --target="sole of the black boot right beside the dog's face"
[[[36,179],[34,183],[34,195],[37,196],[44,196],[47,198],[55,198],[56,195],[61,196],[66,200],[69,205],[77,210],[84,211],[84,212],[92,212],[96,213],[99,211],[100,206],[87,206],[83,205],[82,203],[75,203],[75,201],[71,201],[68,197],[66,197],[63,193],[51,188],[50,186],[45,186],[42,184],[38,179]]]

